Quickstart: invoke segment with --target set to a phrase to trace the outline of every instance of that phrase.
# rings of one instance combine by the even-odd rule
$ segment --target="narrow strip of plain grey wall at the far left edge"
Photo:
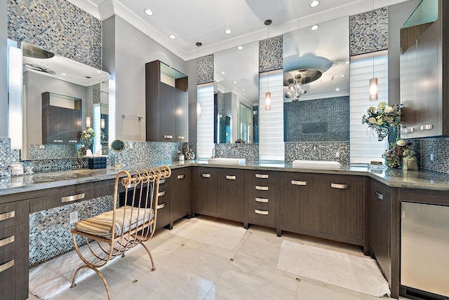
[[[8,137],[8,90],[6,79],[6,40],[8,38],[8,1],[0,1],[0,137]]]

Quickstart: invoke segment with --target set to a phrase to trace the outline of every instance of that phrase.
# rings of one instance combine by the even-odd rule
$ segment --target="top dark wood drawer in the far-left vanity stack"
[[[29,221],[29,201],[17,201],[0,205],[0,229]]]

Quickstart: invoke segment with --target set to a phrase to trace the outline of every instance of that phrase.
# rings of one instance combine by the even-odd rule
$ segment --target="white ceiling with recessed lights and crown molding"
[[[100,20],[116,14],[183,60],[409,0],[69,0]],[[145,8],[154,15],[147,16]],[[232,34],[225,34],[232,29]],[[176,39],[169,39],[174,34]]]

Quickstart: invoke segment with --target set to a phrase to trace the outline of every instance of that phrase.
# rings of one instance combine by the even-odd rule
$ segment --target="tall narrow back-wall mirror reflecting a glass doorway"
[[[259,43],[214,54],[214,142],[257,143]]]

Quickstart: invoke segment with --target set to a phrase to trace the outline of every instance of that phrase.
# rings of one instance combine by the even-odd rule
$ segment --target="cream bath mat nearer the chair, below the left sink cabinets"
[[[170,233],[228,250],[233,250],[246,233],[238,225],[220,224],[206,219],[192,218]]]

